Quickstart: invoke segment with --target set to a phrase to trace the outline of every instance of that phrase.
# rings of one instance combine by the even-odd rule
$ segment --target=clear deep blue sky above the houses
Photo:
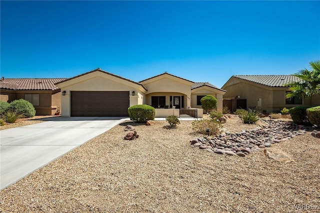
[[[2,1],[5,78],[100,67],[140,81],[169,72],[221,87],[320,59],[320,1]]]

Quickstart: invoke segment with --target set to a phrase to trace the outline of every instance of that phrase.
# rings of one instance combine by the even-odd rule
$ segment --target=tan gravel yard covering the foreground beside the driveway
[[[127,124],[139,138],[123,140]],[[0,212],[320,211],[320,139],[310,133],[273,144],[294,159],[279,163],[264,155],[268,148],[245,157],[200,150],[189,143],[203,137],[191,121],[166,125],[110,129],[2,190]],[[223,126],[237,132],[256,125],[232,116]]]

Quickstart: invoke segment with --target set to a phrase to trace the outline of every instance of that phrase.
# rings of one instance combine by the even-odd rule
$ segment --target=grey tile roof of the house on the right
[[[269,87],[286,87],[284,86],[285,84],[296,82],[300,79],[292,75],[233,75],[232,77]]]

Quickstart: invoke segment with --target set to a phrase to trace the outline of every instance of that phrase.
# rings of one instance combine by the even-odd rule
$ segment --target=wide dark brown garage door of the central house
[[[129,91],[71,91],[71,116],[128,116]]]

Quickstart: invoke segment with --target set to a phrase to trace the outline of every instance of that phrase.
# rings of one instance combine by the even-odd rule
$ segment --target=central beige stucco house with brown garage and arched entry
[[[136,104],[158,109],[201,108],[196,100],[208,94],[217,98],[217,109],[222,109],[225,93],[209,83],[194,83],[166,72],[135,82],[100,68],[55,85],[62,91],[62,116],[128,116],[127,108]]]

